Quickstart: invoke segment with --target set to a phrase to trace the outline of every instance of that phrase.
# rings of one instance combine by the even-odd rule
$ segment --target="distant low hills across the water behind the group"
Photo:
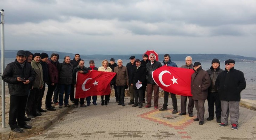
[[[18,50],[5,50],[5,58],[15,58]],[[52,53],[58,53],[60,55],[60,59],[64,58],[65,56],[70,56],[71,59],[74,58],[75,54],[68,53],[68,52],[58,52],[58,51],[32,51],[29,50],[32,53],[42,53],[45,52],[51,56]],[[1,52],[1,51],[0,51]],[[135,58],[142,59],[143,54],[113,54],[113,55],[106,55],[106,54],[93,54],[93,55],[83,55],[81,53],[80,58],[89,60],[110,60],[110,58],[122,59],[122,60],[128,60],[130,56],[134,55]],[[158,54],[159,60],[162,61],[164,58],[164,54]],[[1,56],[1,53],[0,53]],[[227,59],[234,59],[236,62],[256,62],[256,58],[253,57],[245,57],[240,55],[231,55],[231,54],[170,54],[172,61],[185,61],[186,56],[191,56],[193,60],[196,61],[211,61],[214,58],[218,58],[220,61],[225,61]]]

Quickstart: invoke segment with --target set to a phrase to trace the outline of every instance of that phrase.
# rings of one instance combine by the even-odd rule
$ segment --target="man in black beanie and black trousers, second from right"
[[[217,58],[214,58],[211,61],[211,67],[209,70],[206,70],[211,78],[211,86],[208,89],[208,111],[209,117],[208,121],[213,120],[214,117],[214,104],[215,104],[215,114],[217,123],[221,123],[221,101],[219,98],[218,90],[215,87],[215,81],[223,70],[220,68],[220,61]]]

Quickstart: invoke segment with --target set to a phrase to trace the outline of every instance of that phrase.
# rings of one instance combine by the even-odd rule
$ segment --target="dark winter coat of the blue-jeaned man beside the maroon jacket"
[[[59,84],[71,85],[73,79],[73,65],[63,61],[58,65],[59,70]]]

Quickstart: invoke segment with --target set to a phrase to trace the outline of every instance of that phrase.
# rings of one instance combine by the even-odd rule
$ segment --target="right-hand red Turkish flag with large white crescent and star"
[[[162,66],[152,72],[155,83],[164,91],[182,96],[192,96],[191,75],[193,69]]]

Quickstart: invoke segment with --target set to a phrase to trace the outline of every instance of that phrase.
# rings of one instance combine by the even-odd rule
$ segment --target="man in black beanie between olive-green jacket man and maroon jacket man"
[[[47,65],[47,60],[48,60],[48,54],[42,52],[41,53],[41,65],[43,68],[43,81],[44,81],[44,85],[43,88],[40,90],[40,93],[38,95],[38,102],[37,102],[37,107],[38,110],[40,112],[46,112],[46,110],[42,109],[42,98],[44,97],[44,93],[45,93],[45,83],[48,82],[48,65]]]

